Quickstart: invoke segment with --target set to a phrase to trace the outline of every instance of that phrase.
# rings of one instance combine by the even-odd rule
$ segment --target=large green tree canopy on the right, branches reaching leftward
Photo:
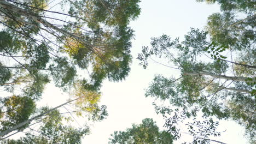
[[[236,1],[218,2],[226,7],[223,5]],[[152,49],[144,46],[138,59],[146,68],[150,56],[165,58],[170,64],[160,64],[181,73],[179,77],[170,78],[156,75],[146,97],[168,100],[194,117],[202,112],[205,117],[233,119],[245,126],[249,139],[253,140],[256,129],[255,15],[248,12],[245,19],[238,19],[237,11],[250,6],[240,7],[239,4],[245,3],[238,1],[236,4],[232,10],[223,8],[223,13],[210,15],[205,31],[191,28],[181,42],[165,34],[152,38]],[[156,111],[159,110],[168,109]]]

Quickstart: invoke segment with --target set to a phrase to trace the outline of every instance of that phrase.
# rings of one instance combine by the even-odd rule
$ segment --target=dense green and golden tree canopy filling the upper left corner
[[[20,75],[21,69],[30,75],[45,71],[62,88],[74,83],[78,68],[88,71],[83,77],[87,89],[98,90],[106,77],[123,80],[131,62],[128,24],[140,13],[138,2],[62,1],[62,9],[51,11],[47,1],[1,1],[0,52],[14,61],[13,67],[1,64],[9,70],[1,84],[10,83],[11,71]]]

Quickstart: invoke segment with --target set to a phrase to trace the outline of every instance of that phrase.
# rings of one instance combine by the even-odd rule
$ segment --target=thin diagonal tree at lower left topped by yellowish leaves
[[[75,104],[79,106],[79,110],[75,110],[74,112],[77,113],[77,114],[79,113],[80,116],[82,116],[82,112],[88,112],[90,115],[92,115],[92,119],[94,121],[98,121],[98,120],[101,121],[102,119],[104,119],[108,115],[107,112],[106,112],[106,106],[102,106],[101,109],[100,109],[100,107],[97,106],[97,102],[98,102],[98,100],[100,98],[100,94],[93,93],[93,92],[89,92],[89,93],[86,93],[86,94],[85,94],[85,92],[83,92],[83,93],[79,92],[78,94],[75,95],[78,98],[75,98],[73,100],[69,100],[66,103],[63,103],[63,104],[61,104],[59,106],[56,106],[53,109],[47,110],[47,111],[45,111],[43,113],[40,113],[39,115],[34,116],[34,117],[30,118],[30,119],[23,118],[22,120],[16,122],[17,123],[16,125],[15,125],[15,123],[13,124],[13,123],[8,122],[8,121],[3,121],[2,124],[3,124],[4,130],[1,131],[0,137],[10,133],[11,131],[20,130],[21,128],[24,128],[24,125],[26,126],[26,125],[30,124],[31,121],[37,120],[38,118],[41,118],[41,117],[45,116],[46,114],[50,113],[51,111],[57,110],[59,107],[65,106],[66,104],[72,103],[73,101],[76,101]],[[15,100],[15,97],[14,97],[14,100]],[[14,101],[14,100],[12,100],[12,101]],[[7,102],[7,104],[11,103],[11,102],[9,102],[9,103],[8,102]],[[13,105],[15,105],[15,106],[18,105],[17,104],[18,102],[16,102],[16,103],[15,102],[16,101],[14,101],[14,103],[10,104],[10,105],[12,105],[11,107],[14,107]],[[26,105],[28,103],[31,103],[31,101],[25,101],[25,102],[26,102],[25,103]],[[18,108],[14,107],[13,109],[16,109],[15,112],[17,112],[18,110],[21,109],[21,110],[23,110],[23,113],[19,112],[19,114],[20,113],[22,113],[22,114],[28,113],[28,116],[29,116],[29,114],[32,113],[32,110],[30,110],[30,109],[33,106],[30,106],[30,105],[27,105],[27,106],[28,107],[25,107],[25,105],[22,105],[22,107],[21,106],[19,106]],[[8,116],[13,116],[14,118],[17,117],[15,114],[10,115],[9,114],[9,110],[8,110]],[[21,117],[27,117],[27,115],[25,115],[25,116],[21,115]],[[10,126],[10,125],[7,125],[5,123],[8,123],[8,124],[11,123],[11,125],[14,125],[14,126],[11,127],[11,128],[8,128],[7,126]]]

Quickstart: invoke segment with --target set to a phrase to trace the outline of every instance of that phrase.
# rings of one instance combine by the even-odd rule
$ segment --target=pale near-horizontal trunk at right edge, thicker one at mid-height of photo
[[[226,76],[226,75],[218,75],[218,74],[212,74],[208,72],[200,71],[199,73],[190,73],[185,72],[184,75],[208,75],[217,79],[225,79],[225,80],[232,80],[232,81],[243,81],[243,82],[256,82],[256,77],[242,77],[242,76]],[[250,80],[252,79],[252,80]]]

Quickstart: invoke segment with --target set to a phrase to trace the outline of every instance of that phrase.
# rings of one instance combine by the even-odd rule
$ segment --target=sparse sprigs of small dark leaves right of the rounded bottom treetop
[[[183,135],[182,133],[184,132],[181,131],[181,127],[179,127],[178,125],[182,125],[185,119],[190,118],[190,113],[179,109],[175,109],[174,111],[161,111],[162,107],[158,107],[156,105],[155,108],[156,113],[160,113],[162,116],[165,117],[166,122],[164,126],[168,129],[168,132],[173,135],[173,139],[180,139]],[[213,122],[212,118],[207,119],[206,117],[204,117],[203,119],[203,121],[197,121],[197,119],[193,119],[193,122],[187,122],[185,124],[188,129],[188,134],[193,136],[192,143],[210,143],[211,141],[215,140],[209,139],[209,136],[220,136],[220,133],[216,129],[218,126],[218,122]]]

